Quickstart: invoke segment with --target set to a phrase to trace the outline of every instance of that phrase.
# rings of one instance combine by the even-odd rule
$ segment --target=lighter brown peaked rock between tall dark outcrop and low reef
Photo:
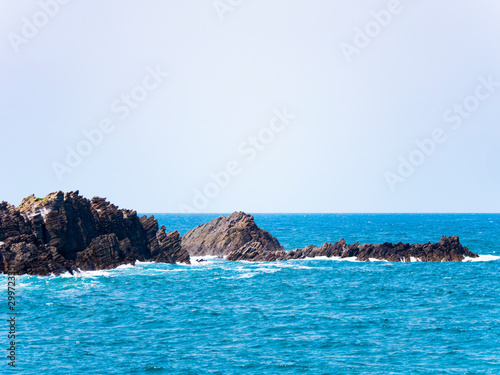
[[[244,251],[249,244],[258,244],[265,252],[284,251],[276,237],[260,229],[253,216],[243,212],[220,216],[182,237],[182,247],[192,256],[225,256]]]

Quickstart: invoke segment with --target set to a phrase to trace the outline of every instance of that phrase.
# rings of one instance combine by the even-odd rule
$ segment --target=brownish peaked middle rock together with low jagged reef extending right
[[[320,247],[285,251],[269,232],[260,229],[254,218],[243,212],[221,216],[200,225],[182,238],[182,247],[193,256],[226,256],[227,260],[275,261],[315,257],[370,259],[390,262],[410,262],[412,258],[422,262],[462,261],[465,257],[477,257],[460,244],[457,236],[442,237],[438,243],[427,244],[362,244],[348,245],[344,239],[325,243]]]

